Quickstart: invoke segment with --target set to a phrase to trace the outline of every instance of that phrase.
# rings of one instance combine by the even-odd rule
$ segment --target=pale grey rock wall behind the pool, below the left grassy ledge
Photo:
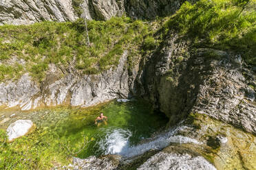
[[[132,75],[127,71],[127,51],[116,69],[98,75],[78,75],[70,68],[64,77],[59,77],[60,72],[61,69],[52,64],[41,84],[33,82],[28,74],[15,82],[2,82],[0,106],[17,106],[21,110],[61,104],[86,107],[129,95]]]

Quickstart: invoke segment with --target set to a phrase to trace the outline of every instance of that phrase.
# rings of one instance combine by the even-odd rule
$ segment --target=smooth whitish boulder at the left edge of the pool
[[[7,129],[8,140],[12,141],[15,138],[19,138],[27,134],[33,126],[33,122],[30,120],[18,120],[11,123]]]

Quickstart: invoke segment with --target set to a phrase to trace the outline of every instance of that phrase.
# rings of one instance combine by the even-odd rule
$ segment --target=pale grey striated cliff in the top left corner
[[[0,10],[0,25],[31,24],[44,20],[74,21],[77,18],[71,0],[3,0],[0,3]]]

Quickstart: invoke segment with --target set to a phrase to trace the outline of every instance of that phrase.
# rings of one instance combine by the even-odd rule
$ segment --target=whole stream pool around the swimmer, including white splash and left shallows
[[[100,112],[108,117],[107,125],[94,124]],[[163,129],[168,121],[164,114],[153,112],[149,104],[140,100],[111,101],[85,109],[64,107],[15,112],[12,122],[15,119],[30,119],[37,127],[50,129],[50,132],[74,146],[81,143],[84,136],[94,138],[77,154],[79,158],[103,154],[129,156],[133,152],[131,148],[142,145],[142,141],[147,141],[153,133]]]

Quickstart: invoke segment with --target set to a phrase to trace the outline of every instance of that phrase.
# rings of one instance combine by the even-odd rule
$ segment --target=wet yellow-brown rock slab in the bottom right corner
[[[178,134],[195,138],[203,145],[180,147],[204,156],[217,169],[255,169],[255,135],[206,114],[191,113],[184,124],[186,128],[180,129]]]

